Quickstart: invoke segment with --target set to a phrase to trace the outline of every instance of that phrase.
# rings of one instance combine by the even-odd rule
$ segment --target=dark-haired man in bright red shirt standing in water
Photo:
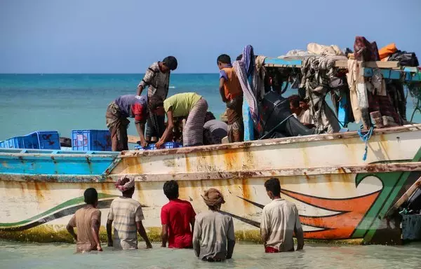
[[[192,247],[194,216],[196,213],[190,202],[178,199],[178,183],[171,180],[163,184],[163,193],[168,204],[161,209],[162,246],[176,249]],[[190,225],[192,228],[190,228]]]

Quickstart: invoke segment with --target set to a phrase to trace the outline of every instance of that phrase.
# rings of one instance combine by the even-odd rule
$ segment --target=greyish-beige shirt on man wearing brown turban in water
[[[232,255],[227,252],[227,240],[235,242],[231,216],[212,210],[196,215],[193,233],[196,256],[225,260],[227,255]]]

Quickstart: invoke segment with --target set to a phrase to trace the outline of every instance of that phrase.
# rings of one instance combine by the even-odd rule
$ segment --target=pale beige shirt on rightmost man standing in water
[[[294,229],[301,228],[297,207],[283,199],[272,200],[263,207],[260,233],[267,235],[265,246],[279,251],[294,249]]]

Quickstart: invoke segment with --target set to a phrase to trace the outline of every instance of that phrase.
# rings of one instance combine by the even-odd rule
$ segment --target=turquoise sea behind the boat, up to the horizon
[[[0,74],[0,140],[35,130],[107,129],[105,110],[119,95],[135,94],[142,74]],[[172,74],[169,95],[197,92],[219,118],[225,110],[218,74]],[[296,93],[288,90],[284,96]],[[327,98],[330,99],[330,98]],[[408,117],[413,102],[408,101]],[[421,122],[421,115],[415,117]],[[355,126],[354,126],[355,127]],[[135,126],[129,127],[135,135]]]

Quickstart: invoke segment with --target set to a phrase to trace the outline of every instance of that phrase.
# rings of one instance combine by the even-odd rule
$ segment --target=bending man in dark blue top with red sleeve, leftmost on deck
[[[147,146],[144,126],[147,120],[147,96],[121,95],[107,107],[105,120],[111,133],[112,151],[127,151],[127,128],[130,120],[135,118],[136,130],[140,137],[140,145]]]

